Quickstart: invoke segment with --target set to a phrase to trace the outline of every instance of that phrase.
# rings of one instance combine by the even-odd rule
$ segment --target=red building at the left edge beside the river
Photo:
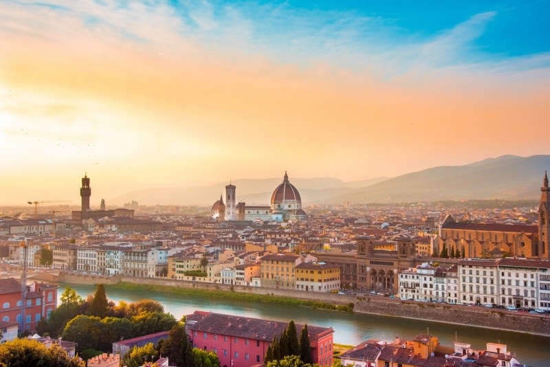
[[[34,282],[25,293],[25,330],[36,330],[36,323],[49,318],[57,307],[57,286]],[[21,283],[14,278],[0,279],[0,320],[21,325]],[[20,328],[21,329],[21,326]]]

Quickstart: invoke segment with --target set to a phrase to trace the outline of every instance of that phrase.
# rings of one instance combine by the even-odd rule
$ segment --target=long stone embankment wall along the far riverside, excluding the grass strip
[[[135,278],[131,276],[90,276],[61,272],[58,282],[81,285],[105,284],[113,285],[119,282],[132,284],[148,284],[177,288],[196,288],[208,290],[238,291],[254,294],[272,294],[274,296],[300,298],[333,304],[353,303],[354,312],[374,313],[378,315],[414,318],[435,322],[449,322],[480,326],[492,329],[521,331],[550,336],[550,316],[535,315],[523,312],[509,312],[500,309],[486,309],[484,307],[465,307],[450,304],[435,304],[428,302],[410,302],[394,300],[382,296],[353,296],[337,293],[314,293],[294,291],[289,289],[265,289],[261,287],[245,287],[240,285],[222,285],[209,282],[192,282],[185,280],[171,280],[160,278]]]

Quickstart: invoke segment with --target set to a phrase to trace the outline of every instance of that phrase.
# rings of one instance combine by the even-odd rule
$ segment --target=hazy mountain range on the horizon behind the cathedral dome
[[[464,166],[439,166],[399,177],[379,177],[344,182],[333,177],[293,179],[304,204],[308,203],[401,203],[462,199],[538,200],[544,170],[550,169],[550,155],[518,157],[503,155]],[[248,205],[269,205],[272,192],[283,181],[237,179],[237,201]],[[208,186],[149,188],[111,199],[121,205],[132,200],[140,205],[212,205],[223,195],[228,182]]]

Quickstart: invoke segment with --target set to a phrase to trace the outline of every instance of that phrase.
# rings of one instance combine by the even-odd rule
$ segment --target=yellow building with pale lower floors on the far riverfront
[[[296,289],[329,292],[340,289],[340,267],[326,263],[296,265]]]

